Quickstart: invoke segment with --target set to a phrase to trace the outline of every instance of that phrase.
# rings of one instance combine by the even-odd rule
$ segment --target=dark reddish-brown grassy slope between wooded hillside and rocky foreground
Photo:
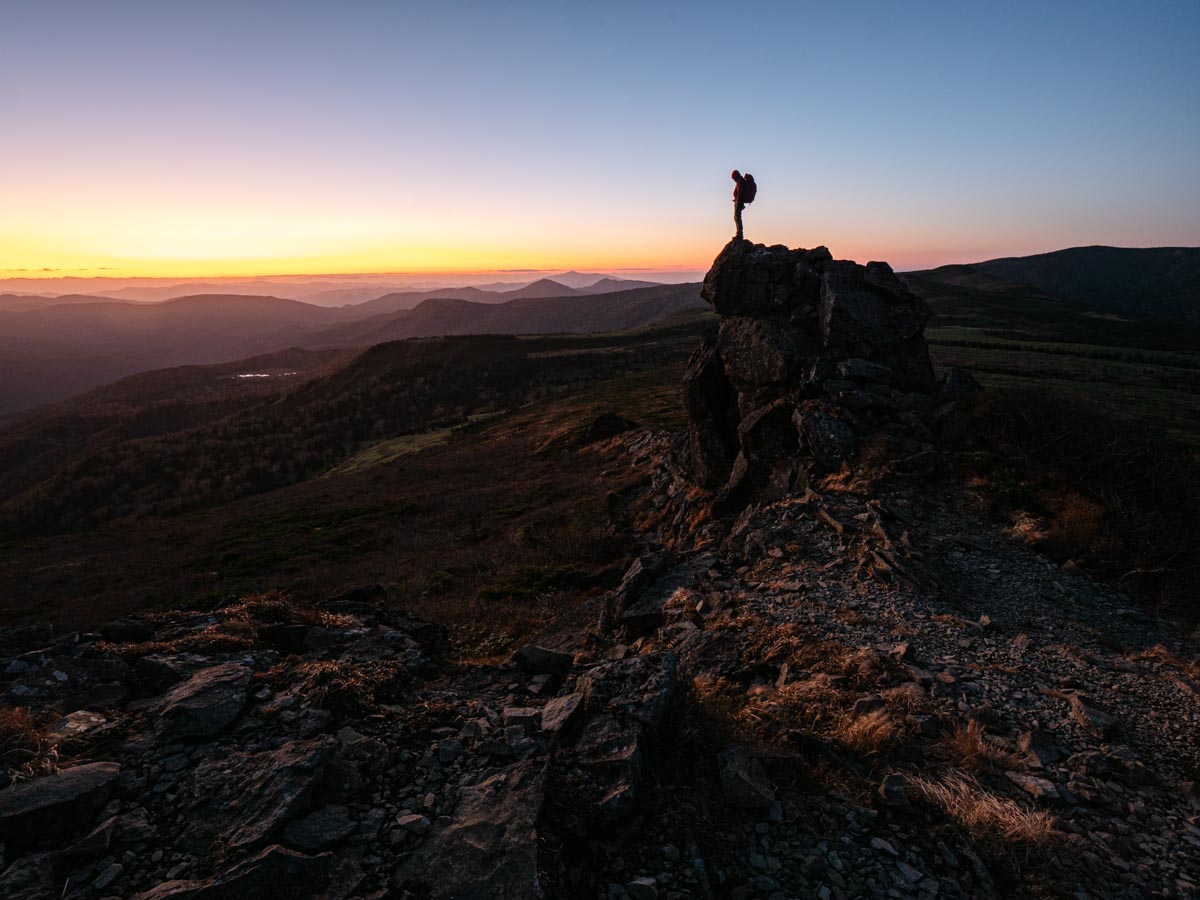
[[[706,322],[646,330],[664,350],[656,367],[376,445],[325,478],[203,512],[2,544],[0,619],[79,628],[250,590],[319,598],[378,581],[449,624],[473,655],[504,652],[570,614],[595,593],[589,580],[628,560],[624,539],[608,534],[620,454],[613,443],[576,448],[570,436],[606,410],[680,426],[679,380]],[[505,592],[516,594],[480,596]]]

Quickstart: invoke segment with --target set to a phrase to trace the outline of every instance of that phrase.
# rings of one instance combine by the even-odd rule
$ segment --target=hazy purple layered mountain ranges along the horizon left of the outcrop
[[[107,294],[0,293],[0,414],[50,403],[151,368],[226,362],[288,347],[367,347],[461,334],[637,328],[701,308],[700,286],[602,274],[386,290],[374,282],[292,284],[304,300],[220,293],[212,284],[136,284]],[[11,280],[10,280],[11,281]],[[44,283],[44,282],[43,282]],[[166,295],[166,299],[163,299]]]

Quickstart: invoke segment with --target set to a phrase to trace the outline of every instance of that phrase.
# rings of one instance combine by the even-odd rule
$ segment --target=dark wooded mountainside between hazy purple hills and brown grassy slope
[[[446,437],[545,391],[662,365],[695,331],[425,338],[136,376],[0,428],[0,532],[78,530],[292,485],[380,442]],[[247,368],[281,374],[238,378]]]

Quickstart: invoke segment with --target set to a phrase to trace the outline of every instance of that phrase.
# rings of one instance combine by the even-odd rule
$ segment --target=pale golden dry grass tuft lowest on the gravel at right
[[[918,796],[938,806],[979,844],[1007,851],[1044,845],[1058,836],[1058,820],[1049,812],[1022,809],[985,791],[972,778],[952,774],[942,781],[910,776]]]

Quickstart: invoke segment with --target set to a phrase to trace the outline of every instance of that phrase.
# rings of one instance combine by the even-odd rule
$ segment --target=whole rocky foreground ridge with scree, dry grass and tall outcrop
[[[703,296],[686,428],[563,451],[635,558],[511,658],[377,584],[0,634],[0,896],[1195,895],[1196,648],[973,500],[925,305],[748,241]]]

